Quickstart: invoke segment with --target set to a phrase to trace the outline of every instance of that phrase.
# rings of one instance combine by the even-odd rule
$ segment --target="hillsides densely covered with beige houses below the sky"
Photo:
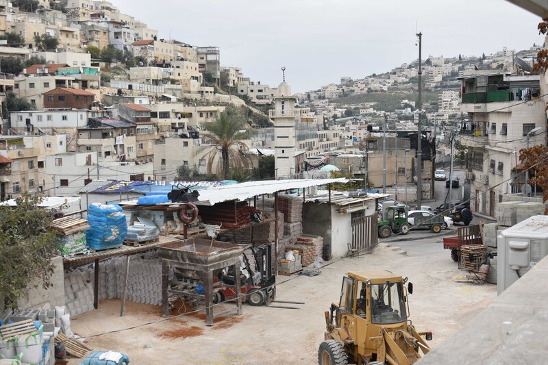
[[[173,181],[181,166],[203,176],[218,162],[208,160],[216,142],[206,125],[227,105],[242,107],[242,118],[256,129],[242,141],[253,166],[273,154],[279,179],[311,176],[329,163],[379,186],[378,173],[368,175],[359,155],[379,148],[375,131],[388,123],[390,146],[418,143],[418,60],[292,94],[285,80],[279,86],[251,80],[242,68],[221,64],[219,47],[167,39],[113,2],[32,3],[0,0],[1,199],[24,191],[76,194],[92,179]],[[430,164],[449,153],[447,128],[466,120],[463,80],[523,73],[516,55],[531,60],[538,49],[423,60]],[[340,162],[341,154],[356,162]],[[411,180],[413,166],[400,179]]]

